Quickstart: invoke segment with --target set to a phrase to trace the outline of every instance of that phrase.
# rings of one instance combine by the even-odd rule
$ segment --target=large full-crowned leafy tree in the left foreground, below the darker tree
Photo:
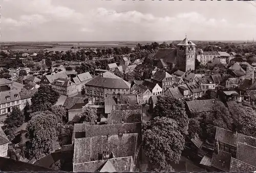
[[[27,136],[29,141],[26,143],[26,152],[29,159],[35,157],[40,159],[56,149],[57,120],[51,112],[37,112],[27,125]]]

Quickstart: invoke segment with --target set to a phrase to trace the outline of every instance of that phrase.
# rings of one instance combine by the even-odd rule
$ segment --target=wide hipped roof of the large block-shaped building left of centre
[[[108,72],[106,72],[108,73]],[[113,74],[114,75],[114,74]],[[98,75],[97,77],[93,78],[86,85],[93,85],[96,87],[103,87],[103,88],[114,88],[114,89],[130,89],[131,84],[122,78],[109,78],[109,77],[102,77]]]

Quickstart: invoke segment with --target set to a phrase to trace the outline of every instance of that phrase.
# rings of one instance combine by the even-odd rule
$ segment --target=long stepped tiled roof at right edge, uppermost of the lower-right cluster
[[[232,131],[220,127],[216,128],[215,139],[232,146],[237,146],[238,142],[241,142],[256,147],[256,138],[240,133],[234,134]]]

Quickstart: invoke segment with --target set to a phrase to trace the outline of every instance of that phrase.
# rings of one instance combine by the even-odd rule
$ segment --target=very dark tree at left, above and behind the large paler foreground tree
[[[51,110],[59,98],[59,93],[54,91],[50,85],[40,85],[38,91],[32,96],[32,111],[46,111]]]

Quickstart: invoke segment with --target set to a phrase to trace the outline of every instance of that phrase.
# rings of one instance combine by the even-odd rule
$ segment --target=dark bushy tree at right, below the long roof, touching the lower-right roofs
[[[200,126],[202,134],[200,137],[204,140],[213,142],[215,139],[216,126],[232,129],[232,118],[223,102],[216,101],[212,106],[211,112],[202,112]]]

